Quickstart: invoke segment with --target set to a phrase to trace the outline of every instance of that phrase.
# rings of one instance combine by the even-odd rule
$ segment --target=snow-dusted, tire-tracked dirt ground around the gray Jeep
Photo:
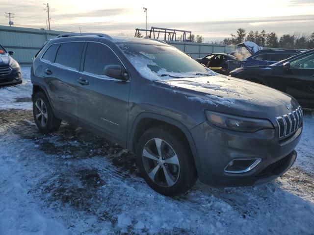
[[[0,235],[314,234],[314,111],[305,110],[298,158],[263,186],[165,197],[138,177],[135,156],[62,123],[37,131],[29,68],[0,88]]]

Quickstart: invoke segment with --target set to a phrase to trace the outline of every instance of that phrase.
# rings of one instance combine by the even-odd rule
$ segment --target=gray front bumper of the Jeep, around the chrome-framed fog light
[[[191,133],[199,156],[200,181],[214,187],[237,187],[267,183],[284,174],[296,159],[294,148],[302,126],[285,142],[276,138],[275,130],[242,133],[214,127],[207,121]],[[226,172],[226,166],[236,159],[261,162],[247,172]]]

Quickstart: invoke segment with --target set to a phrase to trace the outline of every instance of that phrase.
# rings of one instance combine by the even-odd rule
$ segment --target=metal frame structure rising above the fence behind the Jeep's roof
[[[177,32],[182,32],[183,33],[183,42],[191,42],[191,31],[187,30],[181,30],[181,29],[172,29],[172,28],[159,28],[159,27],[154,27],[152,26],[151,29],[140,29],[140,28],[135,28],[135,35],[134,37],[139,38],[140,37],[140,32],[145,32],[147,35],[147,32],[149,32],[149,36],[146,36],[147,38],[154,38],[154,39],[159,39],[159,35],[164,34],[164,41],[177,41]],[[155,35],[157,34],[157,37]],[[189,39],[186,38],[186,34],[189,34]]]

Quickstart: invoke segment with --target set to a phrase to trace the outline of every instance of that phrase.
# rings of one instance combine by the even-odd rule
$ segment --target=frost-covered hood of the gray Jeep
[[[246,117],[267,118],[267,114],[281,116],[298,103],[291,96],[275,89],[224,75],[157,81],[169,85],[175,94],[197,101],[212,111]],[[275,114],[274,114],[275,113]],[[265,117],[266,114],[266,117]]]

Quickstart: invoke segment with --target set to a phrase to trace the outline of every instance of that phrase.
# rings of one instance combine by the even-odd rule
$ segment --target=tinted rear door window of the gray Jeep
[[[83,48],[84,43],[82,42],[61,43],[55,57],[55,63],[79,70]]]

